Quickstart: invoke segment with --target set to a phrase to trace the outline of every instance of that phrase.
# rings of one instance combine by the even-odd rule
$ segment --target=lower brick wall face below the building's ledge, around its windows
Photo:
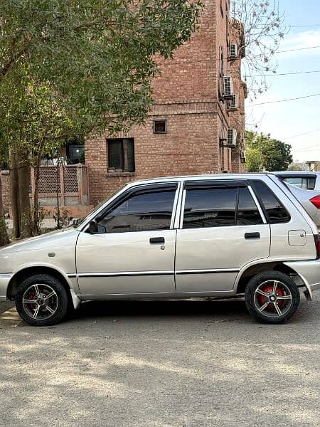
[[[154,117],[149,117],[145,127],[134,127],[129,134],[121,135],[134,137],[134,176],[108,176],[107,135],[87,141],[87,152],[95,153],[87,156],[86,152],[92,204],[97,204],[132,179],[220,172],[215,137],[217,117],[213,112],[183,112],[161,117],[167,120],[167,134],[155,135],[152,128]]]

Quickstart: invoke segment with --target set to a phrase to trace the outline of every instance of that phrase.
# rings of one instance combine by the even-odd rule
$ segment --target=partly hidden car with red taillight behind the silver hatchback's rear
[[[288,171],[273,174],[287,185],[320,229],[320,173]]]

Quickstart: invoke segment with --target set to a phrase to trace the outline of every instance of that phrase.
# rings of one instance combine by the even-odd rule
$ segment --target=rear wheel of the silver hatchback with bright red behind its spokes
[[[297,285],[278,271],[255,275],[245,289],[247,310],[260,323],[277,325],[287,322],[297,311],[299,303]]]

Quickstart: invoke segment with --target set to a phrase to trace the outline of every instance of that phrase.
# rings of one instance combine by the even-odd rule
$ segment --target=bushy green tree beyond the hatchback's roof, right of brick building
[[[247,172],[285,171],[292,163],[289,144],[250,131],[246,131],[245,140]]]

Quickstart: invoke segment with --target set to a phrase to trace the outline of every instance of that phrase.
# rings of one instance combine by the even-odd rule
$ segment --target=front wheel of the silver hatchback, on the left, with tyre
[[[50,297],[51,294],[53,295]],[[32,326],[55,325],[67,314],[68,305],[67,291],[60,281],[51,275],[33,275],[23,280],[16,292],[16,310],[21,319]]]

